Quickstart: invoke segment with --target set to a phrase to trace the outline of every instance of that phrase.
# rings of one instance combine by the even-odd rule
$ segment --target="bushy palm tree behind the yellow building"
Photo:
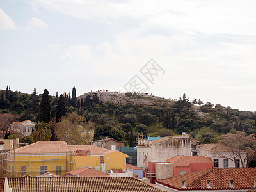
[[[31,133],[31,139],[33,142],[37,141],[49,141],[52,134],[51,129],[47,128],[49,124],[45,122],[35,123],[35,130]]]

